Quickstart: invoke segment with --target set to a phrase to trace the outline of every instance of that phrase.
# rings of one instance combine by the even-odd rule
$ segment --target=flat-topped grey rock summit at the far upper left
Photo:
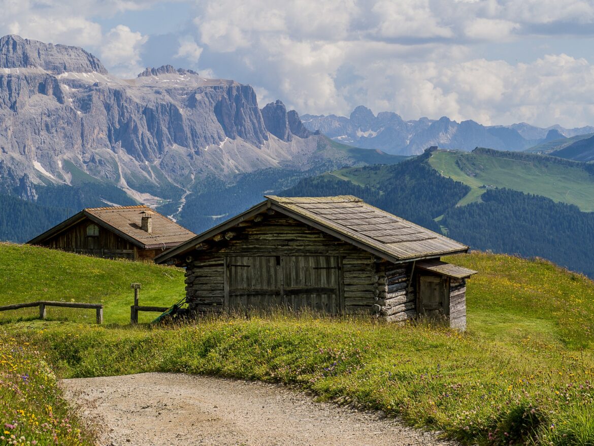
[[[53,45],[15,34],[0,39],[0,68],[41,68],[53,74],[108,73],[99,59],[78,46]]]

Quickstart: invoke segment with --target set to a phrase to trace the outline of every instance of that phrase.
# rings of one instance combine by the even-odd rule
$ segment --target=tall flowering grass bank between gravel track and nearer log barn
[[[511,344],[430,323],[286,313],[176,328],[63,324],[36,333],[62,376],[160,371],[260,379],[397,414],[467,444],[594,439],[594,357],[530,337]]]

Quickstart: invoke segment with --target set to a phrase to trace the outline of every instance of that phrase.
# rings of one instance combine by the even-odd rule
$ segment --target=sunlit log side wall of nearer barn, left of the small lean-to
[[[412,263],[383,263],[380,277],[384,284],[378,293],[375,309],[388,322],[404,322],[416,318],[415,287],[412,279]]]

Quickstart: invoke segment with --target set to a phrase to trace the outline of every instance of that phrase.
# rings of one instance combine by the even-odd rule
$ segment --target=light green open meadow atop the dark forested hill
[[[471,187],[458,206],[479,201],[484,187],[492,186],[542,195],[555,202],[576,205],[584,212],[594,211],[594,177],[579,163],[557,164],[537,155],[525,161],[488,153],[440,150],[432,154],[429,164],[444,177]]]

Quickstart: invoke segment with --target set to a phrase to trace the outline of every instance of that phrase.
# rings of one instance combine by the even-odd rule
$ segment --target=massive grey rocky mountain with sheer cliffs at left
[[[353,164],[365,153],[312,134],[280,101],[260,109],[251,86],[170,65],[121,79],[81,48],[0,39],[0,194],[177,215],[209,178]]]

